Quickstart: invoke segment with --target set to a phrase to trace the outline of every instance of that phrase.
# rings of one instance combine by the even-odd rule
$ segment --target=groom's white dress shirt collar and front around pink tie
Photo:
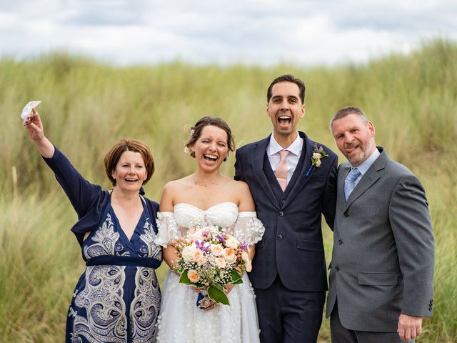
[[[266,147],[266,152],[268,154],[268,160],[270,161],[271,169],[273,172],[276,172],[276,166],[281,159],[279,155],[279,151],[281,150],[288,150],[290,154],[286,157],[286,164],[287,164],[287,183],[291,181],[293,172],[295,172],[296,166],[298,164],[298,159],[300,159],[301,149],[303,149],[303,139],[297,132],[297,138],[286,148],[283,148],[281,145],[278,144],[276,139],[274,139],[274,135],[271,134],[270,142]]]

